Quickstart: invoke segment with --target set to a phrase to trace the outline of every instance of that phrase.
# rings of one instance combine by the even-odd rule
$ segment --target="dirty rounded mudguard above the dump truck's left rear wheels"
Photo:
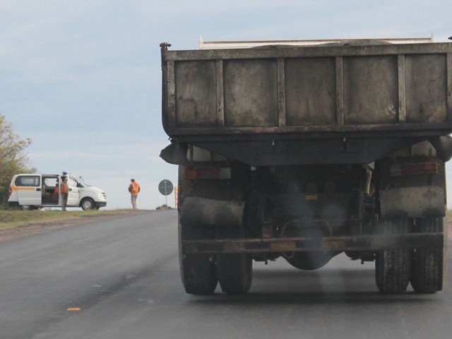
[[[184,199],[180,221],[188,226],[240,227],[244,207],[245,203],[242,201],[218,201],[191,196]]]

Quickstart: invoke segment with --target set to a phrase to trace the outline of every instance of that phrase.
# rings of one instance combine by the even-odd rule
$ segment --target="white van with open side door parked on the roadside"
[[[102,189],[83,182],[73,174],[16,174],[9,186],[8,206],[32,210],[40,207],[61,207],[59,184],[68,178],[69,194],[67,207],[93,210],[107,206],[107,195]]]

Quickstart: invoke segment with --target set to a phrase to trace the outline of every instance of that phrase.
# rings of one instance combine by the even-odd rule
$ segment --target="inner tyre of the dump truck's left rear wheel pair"
[[[218,239],[238,238],[239,230],[218,227]],[[251,288],[253,261],[249,254],[217,254],[218,282],[228,295],[243,295]]]

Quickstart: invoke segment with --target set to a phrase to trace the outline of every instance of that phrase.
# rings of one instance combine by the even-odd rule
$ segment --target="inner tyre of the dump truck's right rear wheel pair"
[[[382,220],[379,225],[383,234],[408,232],[407,218]],[[375,258],[376,286],[382,293],[402,293],[410,283],[412,250],[385,249],[377,251]]]

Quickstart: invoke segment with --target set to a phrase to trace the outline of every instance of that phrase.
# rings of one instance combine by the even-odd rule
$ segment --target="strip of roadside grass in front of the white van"
[[[40,222],[55,222],[71,218],[86,218],[95,215],[114,215],[133,211],[121,210],[0,210],[0,230],[6,228],[37,224]]]

